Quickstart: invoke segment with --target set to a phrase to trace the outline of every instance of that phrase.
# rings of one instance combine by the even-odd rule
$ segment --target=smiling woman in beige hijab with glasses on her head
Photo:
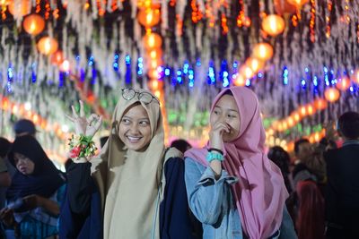
[[[66,164],[69,185],[60,238],[196,238],[182,156],[164,147],[159,100],[147,90],[121,93],[99,157],[73,158]],[[77,135],[92,136],[101,126],[98,115],[85,117],[81,101],[80,114],[73,107],[69,118]],[[102,235],[92,232],[100,209]]]

